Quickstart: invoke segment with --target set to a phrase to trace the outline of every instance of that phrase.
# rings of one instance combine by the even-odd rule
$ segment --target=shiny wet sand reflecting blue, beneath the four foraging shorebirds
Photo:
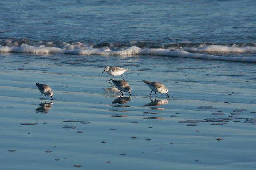
[[[111,77],[101,74],[105,65],[131,69],[123,75],[132,87],[130,98],[120,98],[106,82]],[[255,64],[1,53],[0,80],[5,170],[256,166]],[[150,100],[142,80],[164,83],[170,99],[158,94],[154,100],[153,94]],[[36,82],[52,87],[52,103],[50,97],[41,103]]]

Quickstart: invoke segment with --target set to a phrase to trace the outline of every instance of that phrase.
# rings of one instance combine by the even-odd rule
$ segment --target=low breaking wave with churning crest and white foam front
[[[255,62],[256,57],[227,57],[211,54],[202,54],[201,52],[225,52],[225,53],[255,53],[256,47],[245,46],[238,47],[225,45],[199,45],[199,47],[169,47],[169,48],[140,48],[137,46],[131,47],[95,47],[95,45],[76,43],[59,43],[52,42],[43,43],[39,41],[33,45],[22,43],[21,45],[11,40],[5,41],[3,46],[0,45],[2,53],[64,53],[74,55],[158,55],[170,57],[184,57],[196,59],[212,59],[223,61],[238,61],[238,62]]]

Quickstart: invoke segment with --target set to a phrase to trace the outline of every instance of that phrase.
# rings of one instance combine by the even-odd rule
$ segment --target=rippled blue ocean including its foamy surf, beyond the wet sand
[[[0,52],[256,62],[255,8],[254,0],[2,1]]]

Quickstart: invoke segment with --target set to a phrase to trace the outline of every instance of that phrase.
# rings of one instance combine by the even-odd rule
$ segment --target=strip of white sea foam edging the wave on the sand
[[[224,47],[231,48],[231,49],[234,48],[234,47],[223,46],[223,48]],[[198,50],[198,48],[196,49]],[[222,47],[219,47],[216,45],[215,45],[215,48],[222,49]],[[247,47],[247,48],[236,47],[236,48],[243,49],[240,52],[248,52],[248,51],[256,52],[256,47]],[[184,48],[183,51],[182,50],[170,51],[170,49],[162,49],[162,48],[141,49],[137,46],[132,46],[132,47],[120,48],[118,50],[111,50],[109,47],[93,48],[90,46],[83,45],[82,43],[78,43],[74,45],[63,43],[63,45],[58,45],[58,47],[46,47],[46,45],[40,45],[36,47],[36,46],[31,46],[26,44],[22,44],[20,47],[16,47],[16,46],[0,47],[0,52],[16,52],[16,53],[65,53],[65,54],[76,54],[76,55],[159,55],[159,56],[185,57],[185,58],[196,58],[196,59],[256,62],[256,57],[225,57],[225,56],[216,56],[216,55],[209,55],[209,54],[189,53],[188,51],[193,51],[193,48]],[[198,50],[198,52],[200,52],[200,50]]]

